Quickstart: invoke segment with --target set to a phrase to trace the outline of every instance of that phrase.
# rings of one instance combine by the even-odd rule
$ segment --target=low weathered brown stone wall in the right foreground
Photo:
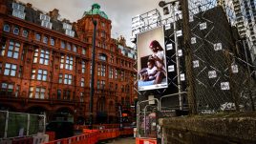
[[[255,144],[256,113],[161,118],[164,144]]]

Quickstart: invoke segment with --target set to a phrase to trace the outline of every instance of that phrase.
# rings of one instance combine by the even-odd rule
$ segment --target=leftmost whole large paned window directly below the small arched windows
[[[18,42],[13,42],[11,40],[9,43],[9,50],[8,50],[7,56],[18,59],[19,49],[20,49],[20,44]]]

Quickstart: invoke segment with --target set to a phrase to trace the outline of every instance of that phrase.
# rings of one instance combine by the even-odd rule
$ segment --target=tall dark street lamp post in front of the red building
[[[95,93],[95,63],[96,63],[96,20],[93,17],[94,6],[92,7],[92,22],[94,24],[94,35],[93,35],[93,56],[92,56],[92,76],[91,76],[91,89],[90,89],[90,104],[89,104],[89,129],[93,129],[94,120],[94,93]]]

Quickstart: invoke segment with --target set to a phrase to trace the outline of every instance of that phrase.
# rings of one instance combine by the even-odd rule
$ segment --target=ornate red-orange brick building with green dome
[[[132,115],[135,52],[123,38],[111,38],[111,20],[99,5],[93,7],[71,23],[60,19],[56,9],[44,12],[29,3],[0,2],[0,110],[86,123],[94,17],[96,122],[115,122],[118,105]]]

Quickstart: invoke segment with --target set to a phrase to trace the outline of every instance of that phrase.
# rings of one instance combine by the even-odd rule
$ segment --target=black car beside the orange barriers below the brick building
[[[74,123],[69,121],[52,121],[46,126],[46,132],[54,132],[55,139],[74,136]]]

